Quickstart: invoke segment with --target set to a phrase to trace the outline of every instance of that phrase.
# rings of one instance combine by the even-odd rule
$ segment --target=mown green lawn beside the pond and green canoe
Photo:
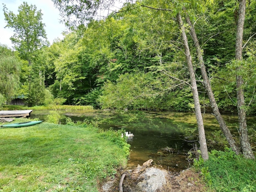
[[[1,128],[0,146],[0,192],[96,192],[129,154],[120,132],[92,124]]]

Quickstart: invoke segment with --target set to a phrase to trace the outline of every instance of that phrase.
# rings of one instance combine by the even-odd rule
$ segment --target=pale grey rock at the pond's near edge
[[[144,177],[142,182],[138,182],[136,191],[140,192],[156,192],[156,190],[162,188],[166,184],[166,170],[160,170],[157,168],[148,168],[145,173],[140,177]]]

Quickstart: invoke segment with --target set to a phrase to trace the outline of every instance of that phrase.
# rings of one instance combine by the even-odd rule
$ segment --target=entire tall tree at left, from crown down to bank
[[[8,11],[8,8],[3,6],[6,27],[14,30],[14,35],[10,38],[14,44],[14,48],[18,51],[21,59],[26,60],[22,66],[21,82],[24,86],[20,92],[28,96],[28,105],[43,104],[44,96],[42,90],[30,90],[31,82],[37,78],[44,78],[42,70],[44,70],[44,52],[42,48],[47,45],[46,32],[42,23],[41,10],[36,10],[36,6],[28,5],[23,2],[18,7],[18,14]],[[26,66],[28,65],[28,66]],[[40,89],[40,87],[39,87]],[[34,94],[32,94],[34,92]],[[38,101],[37,101],[38,100]]]

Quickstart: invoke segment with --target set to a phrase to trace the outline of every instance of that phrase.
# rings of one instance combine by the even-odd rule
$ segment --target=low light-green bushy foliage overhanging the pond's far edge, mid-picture
[[[172,81],[165,84],[163,81],[160,76],[151,73],[124,74],[116,84],[110,81],[104,84],[99,102],[102,108],[190,110],[192,93],[189,90],[172,89]]]

